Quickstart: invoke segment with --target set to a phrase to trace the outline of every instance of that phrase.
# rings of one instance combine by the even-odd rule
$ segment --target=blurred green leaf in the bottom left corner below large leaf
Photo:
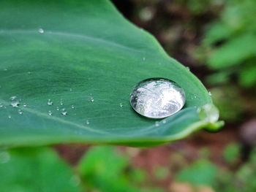
[[[81,191],[78,176],[47,148],[0,150],[0,173],[1,191]]]

